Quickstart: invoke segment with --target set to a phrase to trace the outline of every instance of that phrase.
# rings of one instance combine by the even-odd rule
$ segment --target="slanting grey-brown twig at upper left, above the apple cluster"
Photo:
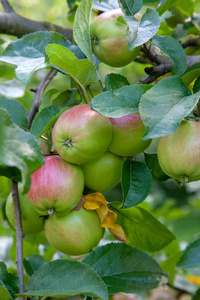
[[[28,115],[28,129],[31,128],[31,124],[33,122],[33,119],[36,115],[36,113],[39,110],[39,107],[41,105],[41,98],[44,93],[45,88],[50,83],[50,81],[53,79],[53,77],[56,75],[57,71],[55,69],[52,69],[46,77],[41,81],[40,85],[38,86],[36,93],[35,93],[35,99],[33,102],[33,105],[30,109],[29,115]]]

